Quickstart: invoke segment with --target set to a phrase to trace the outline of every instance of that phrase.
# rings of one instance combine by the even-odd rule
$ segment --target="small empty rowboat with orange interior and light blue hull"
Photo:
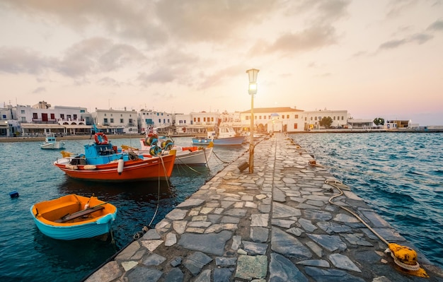
[[[96,196],[69,194],[34,204],[30,213],[41,233],[58,240],[76,240],[109,233],[117,208]]]

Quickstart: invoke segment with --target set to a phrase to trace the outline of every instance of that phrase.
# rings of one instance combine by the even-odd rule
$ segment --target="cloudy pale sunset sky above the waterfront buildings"
[[[0,0],[0,102],[443,125],[443,0]],[[1,105],[0,107],[3,107]]]

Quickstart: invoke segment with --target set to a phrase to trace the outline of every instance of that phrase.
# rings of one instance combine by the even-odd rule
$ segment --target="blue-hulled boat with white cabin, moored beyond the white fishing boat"
[[[208,145],[212,142],[214,146],[233,146],[241,145],[244,141],[245,137],[237,134],[232,127],[216,127],[214,131],[207,131],[206,137],[192,138],[192,144],[195,145]]]

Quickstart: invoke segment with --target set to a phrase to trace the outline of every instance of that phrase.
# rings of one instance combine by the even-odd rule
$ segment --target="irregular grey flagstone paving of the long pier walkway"
[[[228,165],[86,281],[443,281],[393,264],[388,242],[411,246],[311,155],[284,134],[255,146],[254,172]],[[417,249],[415,249],[417,250]]]

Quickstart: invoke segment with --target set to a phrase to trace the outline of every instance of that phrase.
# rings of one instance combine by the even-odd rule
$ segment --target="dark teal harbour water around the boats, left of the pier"
[[[138,139],[115,139],[113,145],[139,147]],[[82,153],[87,140],[67,141],[65,151]],[[191,146],[189,137],[176,144]],[[125,247],[135,233],[155,225],[210,177],[246,151],[246,147],[214,148],[206,167],[174,168],[167,182],[98,184],[71,180],[52,163],[60,151],[42,150],[40,142],[0,143],[0,281],[80,281]],[[217,158],[218,157],[218,158]],[[18,191],[11,199],[9,192]],[[109,239],[59,241],[42,235],[29,208],[65,194],[91,196],[117,206],[113,223],[115,244]],[[158,211],[156,211],[159,206]],[[154,217],[155,214],[155,217]]]

